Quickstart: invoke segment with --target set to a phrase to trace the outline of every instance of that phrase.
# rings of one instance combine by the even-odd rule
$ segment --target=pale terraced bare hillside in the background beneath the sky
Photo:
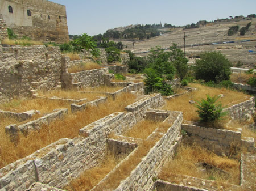
[[[251,22],[249,31],[244,36],[240,32],[235,33],[233,36],[228,36],[227,32],[229,27],[240,26],[245,27],[247,23]],[[252,20],[246,19],[229,19],[228,21],[222,20],[220,22],[208,23],[206,26],[199,28],[185,29],[174,28],[166,29],[168,33],[162,36],[157,36],[152,39],[143,41],[135,41],[135,53],[141,54],[147,52],[148,49],[155,46],[168,48],[172,43],[176,43],[184,50],[184,32],[186,37],[186,55],[188,57],[197,57],[202,51],[205,50],[220,50],[222,54],[233,63],[241,61],[243,67],[253,67],[255,65],[256,55],[249,53],[249,50],[256,50],[256,41],[242,42],[242,40],[256,40],[256,18]],[[118,41],[118,40],[116,40]],[[120,40],[119,40],[120,41]],[[128,40],[121,40],[124,45],[127,45],[127,50],[133,51],[133,42]],[[234,43],[222,44],[225,41],[234,41]],[[212,43],[218,43],[212,45]],[[199,44],[210,44],[198,46]],[[144,53],[145,54],[145,53]]]

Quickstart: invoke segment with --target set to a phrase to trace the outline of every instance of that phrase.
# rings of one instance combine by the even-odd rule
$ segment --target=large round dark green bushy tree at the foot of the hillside
[[[204,52],[201,59],[196,60],[194,67],[196,79],[203,79],[205,82],[215,83],[222,80],[229,80],[232,63],[220,52]]]

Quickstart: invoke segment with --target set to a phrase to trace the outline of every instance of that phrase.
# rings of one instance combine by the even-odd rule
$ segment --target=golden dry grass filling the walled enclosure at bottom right
[[[207,169],[203,170],[204,168]],[[238,185],[240,182],[240,163],[236,159],[217,156],[200,146],[183,145],[178,148],[175,158],[163,167],[159,179],[171,180],[179,184],[179,181],[176,180],[177,175]]]

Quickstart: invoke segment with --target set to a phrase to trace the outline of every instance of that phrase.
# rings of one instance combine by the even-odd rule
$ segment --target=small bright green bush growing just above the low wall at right
[[[199,113],[200,122],[213,122],[216,120],[221,120],[221,118],[227,114],[227,112],[223,112],[222,105],[219,102],[216,103],[219,97],[220,96],[210,97],[207,95],[206,100],[196,100],[196,112]]]

